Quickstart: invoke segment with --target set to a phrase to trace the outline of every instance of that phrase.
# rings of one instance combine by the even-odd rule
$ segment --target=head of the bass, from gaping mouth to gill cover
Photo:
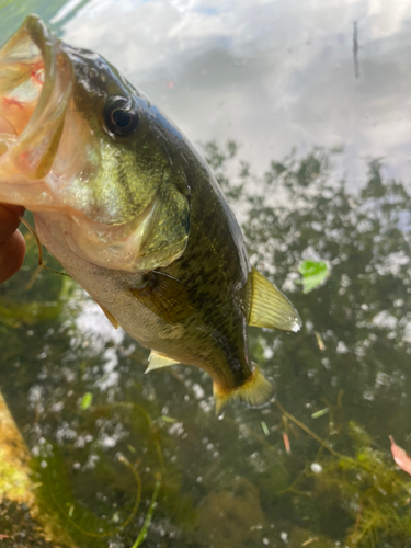
[[[184,138],[100,55],[30,15],[0,49],[0,201],[70,252],[147,272],[190,231]]]

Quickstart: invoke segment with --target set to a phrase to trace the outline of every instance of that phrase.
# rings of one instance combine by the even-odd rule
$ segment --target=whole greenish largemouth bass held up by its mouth
[[[42,244],[151,351],[147,372],[205,370],[217,414],[273,399],[247,327],[301,320],[251,266],[209,167],[107,60],[36,15],[0,49],[0,201],[33,212]]]

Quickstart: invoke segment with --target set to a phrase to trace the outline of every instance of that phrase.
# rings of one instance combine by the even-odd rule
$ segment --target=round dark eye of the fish
[[[130,99],[110,98],[104,106],[103,117],[106,129],[118,137],[127,137],[138,127],[138,109]]]

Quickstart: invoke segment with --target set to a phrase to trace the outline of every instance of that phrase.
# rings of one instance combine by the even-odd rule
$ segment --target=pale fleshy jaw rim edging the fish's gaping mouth
[[[35,49],[28,49],[26,54],[24,47],[27,44],[28,48]],[[21,46],[23,49],[19,52]],[[0,64],[4,59],[5,67],[9,62],[10,66],[18,66],[21,60],[30,67],[31,60],[35,58],[42,59],[42,89],[16,140],[0,157],[2,182],[13,184],[13,203],[24,203],[30,196],[31,208],[54,202],[53,189],[45,178],[53,167],[62,134],[72,89],[72,67],[62,50],[61,42],[42,19],[27,15],[21,27],[1,47]],[[28,182],[41,184],[42,192],[26,193],[24,185]]]

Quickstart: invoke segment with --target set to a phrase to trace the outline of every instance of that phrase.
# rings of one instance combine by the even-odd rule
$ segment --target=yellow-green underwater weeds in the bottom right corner
[[[403,481],[387,458],[387,452],[374,448],[364,429],[350,422],[344,434],[351,442],[352,456],[341,454],[333,448],[341,434],[333,436],[330,445],[279,403],[278,407],[288,420],[321,444],[313,461],[281,494],[292,493],[293,504],[299,510],[304,507],[312,522],[317,521],[317,506],[327,500],[333,514],[346,516],[344,541],[350,547],[377,546],[383,540],[408,546],[411,537],[411,481]],[[311,503],[301,504],[301,498]]]

